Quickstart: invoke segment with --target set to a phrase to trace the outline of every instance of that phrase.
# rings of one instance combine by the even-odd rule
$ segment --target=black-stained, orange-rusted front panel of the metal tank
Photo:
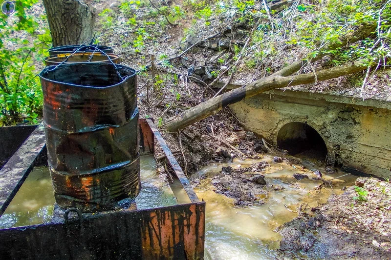
[[[205,202],[0,230],[0,259],[203,259]]]

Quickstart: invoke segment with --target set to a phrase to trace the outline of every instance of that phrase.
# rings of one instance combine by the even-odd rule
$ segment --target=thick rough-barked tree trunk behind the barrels
[[[96,10],[80,0],[43,0],[53,47],[82,44],[93,37]]]

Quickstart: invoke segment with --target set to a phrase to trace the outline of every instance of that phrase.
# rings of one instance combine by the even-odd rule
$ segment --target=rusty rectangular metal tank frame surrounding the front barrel
[[[156,138],[192,203],[83,214],[76,220],[0,229],[0,259],[203,259],[205,202],[196,196],[153,121],[140,119],[139,125],[140,153],[153,154]],[[44,145],[41,125],[0,171],[0,181],[10,176],[12,180],[0,182],[0,187],[12,184],[3,201],[9,204],[15,196]],[[19,164],[13,169],[15,160]],[[1,209],[8,204],[3,202]]]

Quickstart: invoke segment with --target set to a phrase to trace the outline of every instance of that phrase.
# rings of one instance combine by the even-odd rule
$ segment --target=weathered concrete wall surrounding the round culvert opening
[[[230,106],[249,131],[277,143],[286,123],[307,122],[325,140],[327,161],[391,177],[391,103],[275,90]]]

